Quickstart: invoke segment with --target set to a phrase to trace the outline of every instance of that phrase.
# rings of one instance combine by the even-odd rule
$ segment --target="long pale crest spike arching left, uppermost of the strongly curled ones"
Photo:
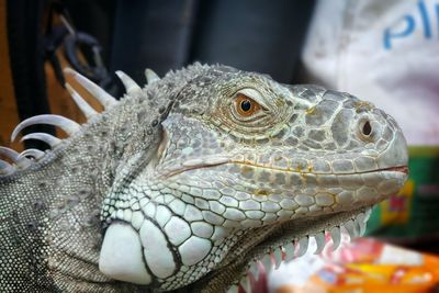
[[[12,132],[11,142],[15,140],[16,136],[22,129],[34,124],[48,124],[58,126],[63,131],[65,131],[68,135],[72,135],[74,133],[78,132],[81,128],[81,126],[78,123],[69,119],[66,119],[64,116],[54,114],[43,114],[26,119],[25,121],[22,121],[19,125],[16,125],[15,129],[13,129]]]

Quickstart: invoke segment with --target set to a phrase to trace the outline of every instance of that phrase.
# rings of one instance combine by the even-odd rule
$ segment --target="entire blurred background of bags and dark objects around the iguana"
[[[367,238],[282,264],[256,292],[437,292],[439,1],[0,0],[0,145],[23,149],[9,137],[30,116],[85,121],[67,66],[121,97],[115,70],[143,84],[145,68],[193,61],[350,92],[409,144],[409,180],[374,209]]]

